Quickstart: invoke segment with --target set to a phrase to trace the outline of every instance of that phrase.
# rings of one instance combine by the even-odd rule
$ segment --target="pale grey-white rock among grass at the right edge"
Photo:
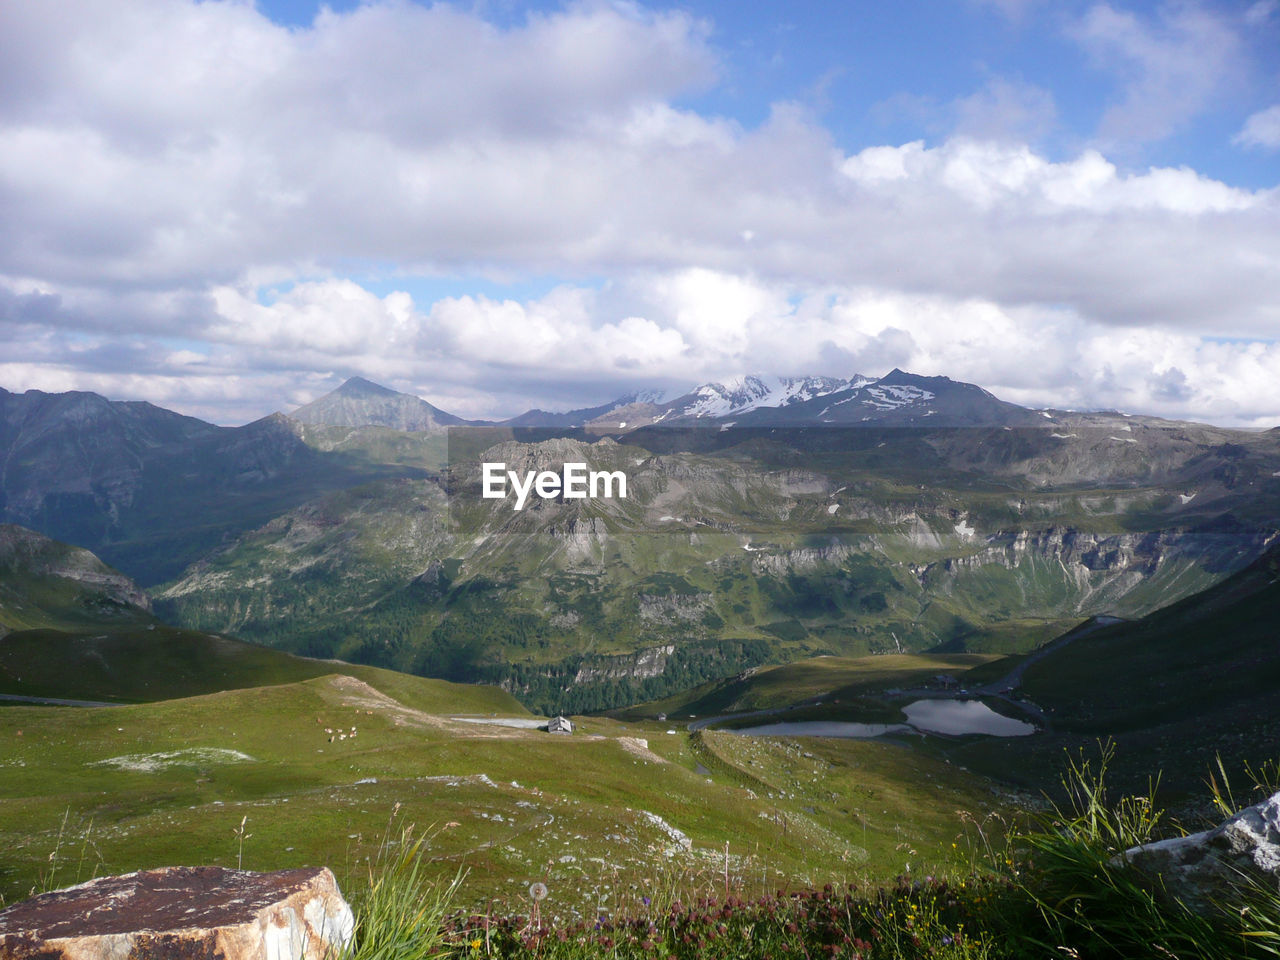
[[[1202,833],[1144,844],[1125,851],[1138,869],[1158,874],[1165,888],[1202,909],[1229,896],[1242,881],[1280,884],[1280,794],[1247,806]]]

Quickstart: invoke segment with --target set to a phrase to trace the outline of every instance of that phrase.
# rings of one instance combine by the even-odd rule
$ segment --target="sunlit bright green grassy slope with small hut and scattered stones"
[[[416,705],[401,695],[411,684]],[[13,900],[54,868],[69,883],[164,863],[329,864],[347,881],[398,806],[401,820],[433,828],[434,872],[470,870],[467,902],[520,909],[541,879],[544,910],[595,915],[654,884],[714,890],[726,842],[736,890],[961,865],[956,812],[1007,808],[987,781],[901,746],[590,718],[561,737],[453,721],[481,707],[457,692],[339,675],[154,704],[0,709],[0,891]]]

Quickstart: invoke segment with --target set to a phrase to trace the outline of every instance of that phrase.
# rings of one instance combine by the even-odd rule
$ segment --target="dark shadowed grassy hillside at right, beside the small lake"
[[[1280,756],[1280,550],[1138,621],[1082,636],[1025,672],[1051,735],[974,744],[960,755],[1027,782],[1052,778],[1062,750],[1117,744],[1130,786],[1155,769],[1174,796],[1202,792],[1221,756],[1236,774]],[[1247,778],[1236,776],[1238,782]]]

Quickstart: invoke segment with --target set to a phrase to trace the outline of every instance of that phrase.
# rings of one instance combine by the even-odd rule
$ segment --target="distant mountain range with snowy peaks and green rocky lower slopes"
[[[481,454],[631,492],[515,513],[466,493]],[[93,550],[180,627],[543,709],[823,653],[1030,649],[1208,588],[1280,529],[1277,431],[899,370],[498,424],[361,379],[238,428],[0,392],[0,520]]]

